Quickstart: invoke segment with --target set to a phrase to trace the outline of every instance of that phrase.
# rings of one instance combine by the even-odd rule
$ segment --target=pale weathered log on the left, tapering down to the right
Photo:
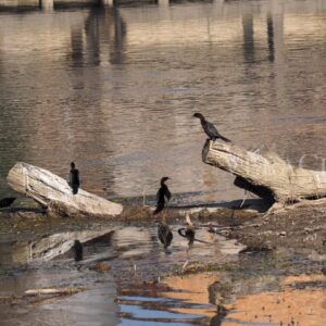
[[[14,190],[33,198],[54,215],[109,217],[121,214],[123,210],[121,204],[80,188],[77,195],[73,195],[65,179],[27,163],[16,163],[7,181]]]

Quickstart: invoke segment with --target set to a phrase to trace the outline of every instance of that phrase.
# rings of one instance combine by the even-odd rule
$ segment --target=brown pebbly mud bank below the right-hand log
[[[259,215],[227,233],[248,247],[256,249],[288,248],[303,252],[326,253],[326,209],[301,206],[294,210]]]

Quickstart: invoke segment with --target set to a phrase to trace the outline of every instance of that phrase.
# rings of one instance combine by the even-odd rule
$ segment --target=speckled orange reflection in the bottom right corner
[[[292,276],[284,285],[325,281],[325,276]],[[240,298],[226,306],[231,310],[224,326],[242,323],[266,323],[267,325],[321,326],[325,325],[326,297],[322,287],[299,289],[286,286],[280,292],[262,292]]]

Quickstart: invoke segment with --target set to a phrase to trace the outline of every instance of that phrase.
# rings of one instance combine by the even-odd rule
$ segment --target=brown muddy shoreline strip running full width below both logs
[[[326,208],[300,206],[272,214],[229,208],[170,209],[170,223],[183,223],[185,211],[197,227],[248,246],[252,250],[287,248],[294,251],[326,253]],[[58,231],[92,229],[110,225],[142,225],[155,222],[149,206],[129,206],[114,220],[50,217],[37,206],[0,212],[0,241],[34,240]]]

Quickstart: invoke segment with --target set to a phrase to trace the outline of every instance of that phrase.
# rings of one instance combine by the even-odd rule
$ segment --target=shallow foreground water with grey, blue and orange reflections
[[[58,236],[63,241],[54,246],[59,254],[55,259],[29,260],[21,267],[16,261],[7,261],[7,266],[0,268],[1,322],[5,326],[171,326],[288,325],[293,319],[300,321],[299,325],[322,325],[325,276],[313,275],[321,268],[319,262],[283,252],[238,254],[241,246],[204,229],[197,230],[197,238],[205,242],[195,242],[189,249],[177,235],[178,227],[172,226],[170,253],[156,239],[156,227],[116,226],[114,233],[90,240],[85,234],[84,259],[78,262],[73,249],[60,254],[60,248],[66,248],[67,242],[61,234]],[[1,243],[1,252],[5,244],[8,250],[16,250],[10,243]],[[98,268],[99,263],[109,268]],[[234,268],[159,277],[189,271],[187,266],[201,263]],[[306,275],[284,277],[302,271]],[[88,290],[48,299],[17,297],[11,304],[3,300],[7,296],[22,296],[27,289],[74,286]]]

